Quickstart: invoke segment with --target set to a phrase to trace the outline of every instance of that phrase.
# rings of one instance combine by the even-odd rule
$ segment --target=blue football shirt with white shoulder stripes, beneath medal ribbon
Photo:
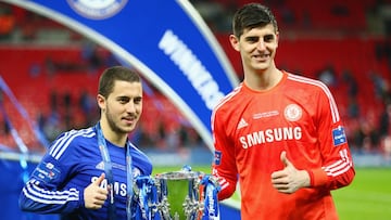
[[[150,176],[152,164],[148,156],[130,144],[133,176]],[[113,167],[114,199],[117,219],[126,219],[126,147],[106,141]],[[61,213],[65,219],[109,219],[106,200],[101,209],[86,209],[84,189],[104,172],[94,127],[71,130],[54,140],[42,160],[22,190],[22,210],[38,213]],[[101,187],[106,187],[103,180]]]

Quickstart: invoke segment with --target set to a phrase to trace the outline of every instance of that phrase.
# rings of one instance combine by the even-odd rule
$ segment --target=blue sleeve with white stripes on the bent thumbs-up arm
[[[72,147],[61,144],[63,140],[64,137],[58,139],[23,187],[20,195],[22,210],[64,213],[72,212],[84,204],[83,190],[66,185],[67,177],[72,176],[71,164],[74,153]],[[61,157],[56,157],[60,153],[55,150],[64,150]]]

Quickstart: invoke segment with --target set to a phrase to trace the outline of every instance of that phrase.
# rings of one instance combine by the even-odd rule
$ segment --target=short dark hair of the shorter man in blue
[[[113,92],[116,80],[140,82],[141,78],[136,72],[124,66],[106,68],[99,78],[98,93],[108,98]]]

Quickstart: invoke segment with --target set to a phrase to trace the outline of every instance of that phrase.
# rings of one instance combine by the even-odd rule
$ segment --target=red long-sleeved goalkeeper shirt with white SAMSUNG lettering
[[[253,219],[338,219],[330,191],[354,178],[343,125],[329,89],[318,80],[283,72],[273,89],[258,92],[241,83],[213,112],[213,174],[219,199],[240,182],[241,216]],[[282,151],[311,186],[293,194],[272,185],[283,169]]]

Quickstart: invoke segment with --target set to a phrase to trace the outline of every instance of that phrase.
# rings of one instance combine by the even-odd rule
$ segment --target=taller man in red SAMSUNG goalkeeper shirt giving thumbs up
[[[354,176],[343,124],[320,81],[276,67],[278,26],[261,4],[234,16],[244,79],[214,109],[218,199],[241,192],[242,220],[338,219],[331,190]]]

